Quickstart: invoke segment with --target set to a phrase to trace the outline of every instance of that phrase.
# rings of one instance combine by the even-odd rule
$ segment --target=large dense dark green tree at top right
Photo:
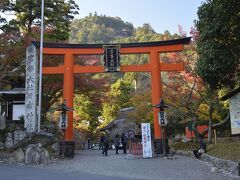
[[[239,84],[240,1],[207,0],[198,10],[197,73],[211,89]]]

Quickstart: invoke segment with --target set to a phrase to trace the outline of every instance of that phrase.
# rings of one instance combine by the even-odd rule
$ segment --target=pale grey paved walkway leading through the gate
[[[126,154],[102,156],[99,150],[78,151],[74,159],[57,160],[45,168],[61,172],[84,172],[92,175],[138,180],[230,180],[237,179],[213,168],[200,160],[184,156],[176,159],[163,157],[129,159]]]

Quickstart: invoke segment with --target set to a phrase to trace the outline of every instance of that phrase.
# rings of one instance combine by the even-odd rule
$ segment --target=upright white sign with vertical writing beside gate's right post
[[[142,123],[142,146],[143,157],[152,157],[152,142],[150,123]]]

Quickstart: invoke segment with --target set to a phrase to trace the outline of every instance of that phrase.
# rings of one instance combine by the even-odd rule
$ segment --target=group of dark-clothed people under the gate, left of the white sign
[[[123,153],[127,153],[127,136],[122,133],[121,137],[117,134],[113,140],[113,144],[116,150],[116,154],[118,154],[118,150],[120,147],[120,143],[122,143],[122,149]],[[102,155],[107,156],[108,155],[108,149],[110,146],[110,138],[109,138],[109,133],[108,131],[105,132],[105,135],[102,135],[100,137],[100,142],[99,142],[99,149],[102,149]]]

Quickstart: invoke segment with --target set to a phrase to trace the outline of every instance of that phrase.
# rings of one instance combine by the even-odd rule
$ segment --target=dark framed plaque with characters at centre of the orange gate
[[[105,45],[104,47],[104,66],[105,72],[117,72],[120,70],[119,45]]]

